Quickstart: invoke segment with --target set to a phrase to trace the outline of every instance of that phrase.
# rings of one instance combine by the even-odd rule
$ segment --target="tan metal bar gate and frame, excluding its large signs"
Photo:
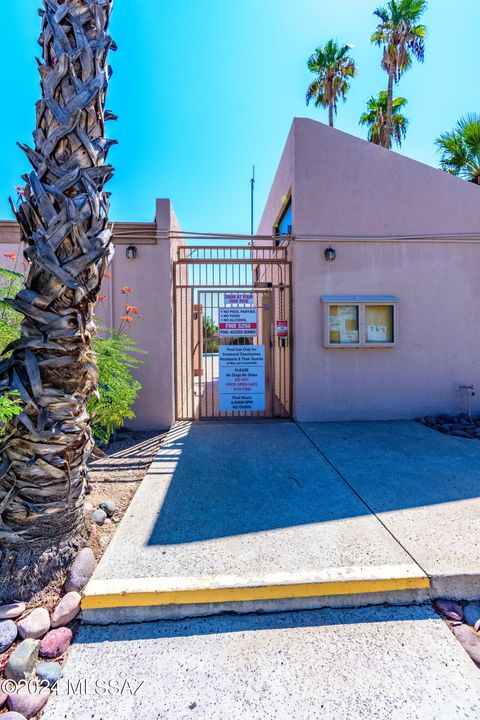
[[[291,417],[292,288],[288,248],[271,244],[181,245],[173,281],[176,419]],[[226,292],[253,294],[258,315],[255,338],[218,336],[218,311],[225,305]],[[288,336],[277,336],[277,321],[287,323]],[[218,347],[222,344],[265,346],[265,410],[220,411]]]

